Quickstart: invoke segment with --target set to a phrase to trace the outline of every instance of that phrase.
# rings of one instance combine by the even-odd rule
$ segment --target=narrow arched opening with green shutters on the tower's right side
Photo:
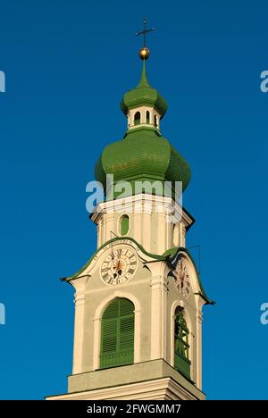
[[[180,306],[175,311],[174,325],[174,367],[190,379],[188,327],[183,316],[183,309]]]

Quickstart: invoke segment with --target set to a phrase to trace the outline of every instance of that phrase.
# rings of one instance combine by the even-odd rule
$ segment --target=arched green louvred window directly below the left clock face
[[[101,325],[100,368],[107,369],[134,361],[134,305],[116,297],[106,307]]]

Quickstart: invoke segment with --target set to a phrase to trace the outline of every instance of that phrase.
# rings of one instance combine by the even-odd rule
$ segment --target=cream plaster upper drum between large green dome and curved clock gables
[[[185,247],[186,230],[194,222],[172,197],[141,193],[104,202],[91,216],[97,226],[97,247],[121,236],[122,214],[130,218],[127,236],[134,238],[147,252],[157,255],[172,247]]]

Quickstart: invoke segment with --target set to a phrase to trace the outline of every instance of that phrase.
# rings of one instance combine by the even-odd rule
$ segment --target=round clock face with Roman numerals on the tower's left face
[[[125,283],[136,272],[138,260],[129,248],[119,248],[111,251],[101,265],[101,278],[110,286]]]

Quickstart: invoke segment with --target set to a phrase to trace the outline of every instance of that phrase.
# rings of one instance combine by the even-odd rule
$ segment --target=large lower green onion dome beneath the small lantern
[[[105,188],[106,174],[113,174],[114,182],[121,180],[182,181],[188,186],[191,172],[185,159],[156,129],[129,130],[121,141],[105,147],[96,163],[95,176]]]

